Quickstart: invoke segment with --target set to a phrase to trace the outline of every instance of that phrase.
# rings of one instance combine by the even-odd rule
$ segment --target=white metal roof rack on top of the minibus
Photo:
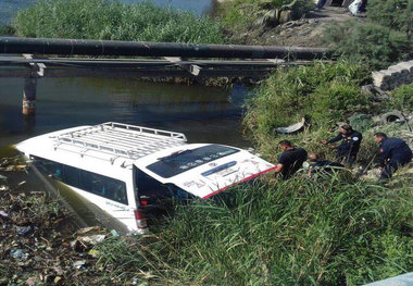
[[[71,151],[87,156],[89,150],[96,153],[113,154],[116,158],[139,159],[157,151],[184,145],[187,138],[182,133],[147,128],[123,123],[108,122],[85,127],[55,137],[54,150],[64,146],[78,147]],[[107,156],[100,158],[105,159]]]

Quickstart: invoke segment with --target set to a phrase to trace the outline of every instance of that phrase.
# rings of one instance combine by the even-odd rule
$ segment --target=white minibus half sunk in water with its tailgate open
[[[148,232],[145,210],[163,199],[208,199],[274,169],[239,148],[113,122],[48,133],[16,148],[136,234]]]

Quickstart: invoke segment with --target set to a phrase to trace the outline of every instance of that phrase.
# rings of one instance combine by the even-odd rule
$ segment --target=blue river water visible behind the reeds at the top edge
[[[87,0],[85,0],[87,1]],[[139,3],[145,0],[121,0],[121,2],[130,4]],[[18,10],[36,3],[37,0],[0,0],[0,24],[9,24]],[[213,0],[150,0],[154,4],[161,7],[174,7],[182,10],[187,10],[197,15],[211,11]]]

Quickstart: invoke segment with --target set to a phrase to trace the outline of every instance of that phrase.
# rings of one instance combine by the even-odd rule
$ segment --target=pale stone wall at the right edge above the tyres
[[[372,72],[373,84],[383,90],[413,83],[413,61],[390,65],[387,70]]]

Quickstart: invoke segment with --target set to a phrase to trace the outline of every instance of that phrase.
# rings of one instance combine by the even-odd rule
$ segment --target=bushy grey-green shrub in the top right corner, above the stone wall
[[[413,57],[412,15],[412,1],[372,0],[365,23],[335,24],[327,29],[325,42],[348,59],[387,67]]]

